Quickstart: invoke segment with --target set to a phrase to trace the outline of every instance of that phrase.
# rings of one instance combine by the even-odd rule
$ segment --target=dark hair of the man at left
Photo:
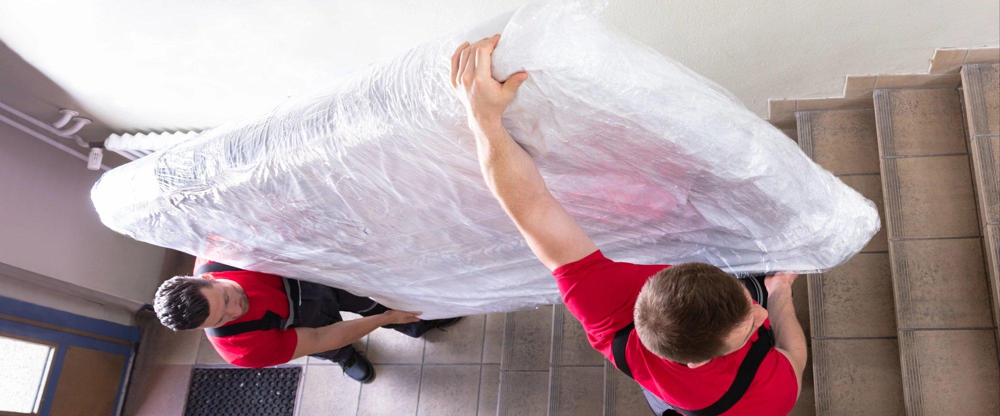
[[[160,285],[153,310],[160,322],[175,331],[195,329],[208,319],[208,298],[201,289],[214,282],[204,277],[177,276]]]

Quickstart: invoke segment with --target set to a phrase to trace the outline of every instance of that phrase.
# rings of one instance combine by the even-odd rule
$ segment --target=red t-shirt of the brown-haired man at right
[[[632,322],[635,300],[646,280],[668,265],[618,263],[600,250],[552,272],[566,308],[583,323],[594,349],[614,362],[611,342],[615,332]],[[770,328],[770,322],[764,325]],[[683,409],[702,409],[715,403],[729,389],[750,344],[698,368],[660,358],[646,349],[635,331],[628,340],[625,359],[640,385]],[[787,415],[795,406],[798,383],[788,358],[771,348],[757,369],[749,390],[723,413],[736,415]]]

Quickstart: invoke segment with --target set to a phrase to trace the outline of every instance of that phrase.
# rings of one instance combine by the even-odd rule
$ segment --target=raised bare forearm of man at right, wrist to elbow
[[[550,198],[534,160],[499,122],[473,122],[479,166],[490,191],[515,222]]]

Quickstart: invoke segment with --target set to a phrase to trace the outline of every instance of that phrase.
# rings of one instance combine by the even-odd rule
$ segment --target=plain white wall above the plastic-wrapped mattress
[[[112,130],[199,129],[525,2],[0,0],[0,41]],[[846,74],[925,72],[934,48],[1000,41],[996,0],[609,3],[611,25],[761,116],[768,98],[840,96]]]

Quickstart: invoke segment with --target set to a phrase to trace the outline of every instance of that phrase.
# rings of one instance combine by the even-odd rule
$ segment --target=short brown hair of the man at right
[[[743,285],[706,263],[653,275],[635,302],[635,331],[653,354],[681,364],[722,356],[725,338],[750,314]]]

